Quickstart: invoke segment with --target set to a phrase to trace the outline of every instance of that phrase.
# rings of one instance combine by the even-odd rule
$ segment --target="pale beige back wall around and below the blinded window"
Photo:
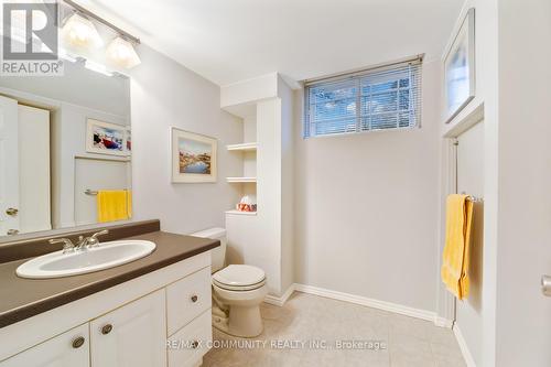
[[[295,98],[295,281],[435,311],[440,63],[421,129],[303,140]]]

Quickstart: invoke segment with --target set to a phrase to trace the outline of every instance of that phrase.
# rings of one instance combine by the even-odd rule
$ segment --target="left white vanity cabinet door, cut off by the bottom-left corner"
[[[75,327],[0,363],[0,367],[88,367],[88,324]]]

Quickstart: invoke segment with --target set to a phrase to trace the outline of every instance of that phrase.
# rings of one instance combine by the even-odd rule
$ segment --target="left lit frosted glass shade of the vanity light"
[[[62,39],[68,46],[99,48],[104,41],[91,21],[74,13],[62,29]]]

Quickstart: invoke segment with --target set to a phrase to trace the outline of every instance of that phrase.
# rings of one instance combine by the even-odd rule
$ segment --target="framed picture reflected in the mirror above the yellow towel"
[[[86,151],[89,153],[128,155],[127,127],[116,123],[86,120]]]

